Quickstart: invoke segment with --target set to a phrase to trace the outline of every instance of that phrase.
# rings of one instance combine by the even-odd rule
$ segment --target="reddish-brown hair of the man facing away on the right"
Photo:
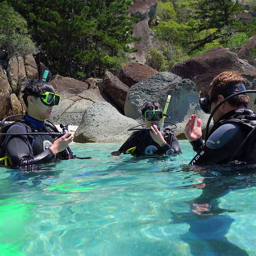
[[[246,80],[242,78],[242,76],[235,71],[225,71],[219,75],[217,75],[210,84],[211,96],[215,97],[223,93],[225,89],[228,89],[232,85],[241,82],[244,85],[246,84]],[[248,95],[238,95],[230,100],[228,103],[233,107],[248,107],[250,102],[250,98]]]

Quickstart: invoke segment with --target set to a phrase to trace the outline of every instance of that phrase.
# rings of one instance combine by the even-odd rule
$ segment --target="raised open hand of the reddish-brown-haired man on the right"
[[[196,114],[192,114],[185,126],[185,136],[192,142],[202,136],[201,119],[197,119],[197,126],[195,126]]]

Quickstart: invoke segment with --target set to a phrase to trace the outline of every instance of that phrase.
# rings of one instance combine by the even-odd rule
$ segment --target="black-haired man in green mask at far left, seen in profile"
[[[45,122],[53,106],[59,104],[60,96],[55,94],[51,84],[30,79],[24,82],[23,100],[27,106],[26,116],[13,123],[7,133],[28,135],[6,135],[1,145],[1,154],[6,154],[12,166],[25,167],[48,163],[65,157],[65,149],[73,140],[70,132],[58,139],[50,135],[29,133],[57,132],[53,125]]]

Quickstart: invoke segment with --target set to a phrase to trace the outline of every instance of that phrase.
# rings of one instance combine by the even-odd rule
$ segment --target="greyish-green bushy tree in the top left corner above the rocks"
[[[0,50],[5,50],[8,58],[36,53],[36,47],[28,35],[26,20],[7,2],[0,4]]]

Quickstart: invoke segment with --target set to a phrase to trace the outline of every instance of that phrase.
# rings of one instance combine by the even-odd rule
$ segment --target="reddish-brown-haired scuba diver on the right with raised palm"
[[[197,155],[191,165],[225,164],[233,160],[255,164],[256,115],[247,109],[250,98],[245,79],[234,71],[225,71],[210,84],[208,96],[201,98],[202,110],[211,114],[206,127],[206,143],[203,141],[201,119],[192,114],[185,127],[186,138]],[[211,119],[214,126],[209,135]],[[250,139],[249,139],[250,138]]]

